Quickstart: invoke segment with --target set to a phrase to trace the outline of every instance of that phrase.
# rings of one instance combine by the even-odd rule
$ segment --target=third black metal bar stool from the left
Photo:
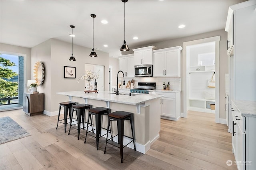
[[[96,122],[96,136],[95,134],[92,134],[90,133],[92,130],[88,131],[88,124],[87,124],[87,127],[86,127],[86,136],[85,136],[85,140],[84,140],[84,143],[86,143],[86,138],[87,138],[87,134],[91,135],[91,136],[94,136],[96,138],[96,146],[97,146],[97,150],[99,148],[99,138],[106,135],[106,134],[103,134],[101,135],[101,116],[102,115],[108,115],[110,113],[111,109],[109,108],[105,108],[105,107],[95,107],[95,108],[92,108],[92,109],[89,109],[88,110],[88,121],[89,122],[89,118],[92,120],[92,117],[91,115],[95,115],[95,122]],[[109,128],[110,128],[110,125],[108,125]],[[106,129],[106,128],[103,128],[103,129]],[[107,130],[107,129],[106,129]],[[110,128],[110,131],[111,131],[111,128]],[[110,133],[111,137],[112,137],[112,134]]]

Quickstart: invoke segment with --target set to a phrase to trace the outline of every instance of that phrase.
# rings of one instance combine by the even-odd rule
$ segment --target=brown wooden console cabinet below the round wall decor
[[[44,93],[23,93],[23,111],[29,115],[39,115],[44,112]]]

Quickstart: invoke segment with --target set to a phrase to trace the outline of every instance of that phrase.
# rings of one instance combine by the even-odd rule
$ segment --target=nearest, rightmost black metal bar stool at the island
[[[126,121],[126,120],[130,120],[131,130],[132,130],[132,138],[129,137],[129,136],[124,135],[124,121]],[[132,113],[124,112],[124,111],[116,111],[116,112],[110,113],[108,115],[108,126],[110,125],[110,121],[117,121],[118,143],[117,142],[113,142],[113,137],[115,137],[115,136],[113,136],[113,137],[111,136],[110,139],[112,139],[112,142],[108,142],[108,140],[110,140],[110,139],[108,139],[108,130],[107,130],[107,138],[106,138],[106,146],[105,146],[104,154],[106,153],[107,143],[112,144],[112,145],[120,148],[120,158],[121,158],[121,163],[123,163],[123,148],[125,146],[127,146],[128,144],[133,142],[134,150],[136,151],[135,141],[134,141],[134,133],[133,133]],[[124,144],[124,136],[132,139],[132,141],[130,141],[125,146],[123,145]]]

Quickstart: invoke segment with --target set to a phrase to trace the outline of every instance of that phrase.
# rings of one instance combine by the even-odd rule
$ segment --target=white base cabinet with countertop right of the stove
[[[160,99],[161,103],[161,118],[172,121],[180,119],[180,91],[171,92],[156,92],[157,95],[163,95]]]

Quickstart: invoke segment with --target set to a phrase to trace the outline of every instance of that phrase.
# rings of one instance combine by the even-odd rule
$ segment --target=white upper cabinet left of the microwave
[[[124,72],[124,77],[134,77],[134,55],[123,55],[118,61],[119,70]]]

